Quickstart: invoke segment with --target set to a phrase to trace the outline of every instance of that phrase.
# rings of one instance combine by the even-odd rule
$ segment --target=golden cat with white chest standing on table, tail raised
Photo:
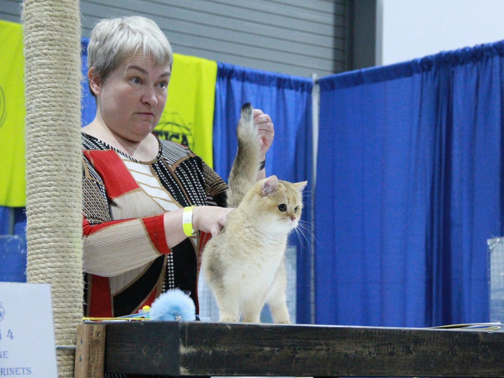
[[[265,302],[274,323],[290,323],[286,303],[285,247],[301,216],[306,181],[270,176],[256,182],[258,132],[245,104],[236,130],[238,152],[229,177],[228,206],[235,207],[222,232],[203,251],[202,268],[213,289],[220,322],[260,323]],[[285,211],[279,205],[285,204]],[[283,206],[281,206],[283,208]]]

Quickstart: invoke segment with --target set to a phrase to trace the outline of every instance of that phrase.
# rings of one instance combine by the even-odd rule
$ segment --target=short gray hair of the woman
[[[93,67],[93,73],[103,83],[125,58],[138,51],[144,57],[151,56],[156,65],[171,67],[173,62],[170,42],[154,21],[141,16],[101,20],[91,32],[88,69]],[[91,93],[95,96],[92,90]]]

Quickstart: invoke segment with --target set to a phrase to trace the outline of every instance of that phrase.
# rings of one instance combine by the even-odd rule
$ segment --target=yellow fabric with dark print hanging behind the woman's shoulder
[[[191,148],[210,166],[217,62],[173,54],[168,99],[155,132]]]

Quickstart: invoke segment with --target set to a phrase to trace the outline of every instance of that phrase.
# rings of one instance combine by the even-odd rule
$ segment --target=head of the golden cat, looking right
[[[259,180],[240,204],[254,216],[262,228],[288,232],[297,227],[301,217],[302,191],[307,181],[288,182],[270,176]]]

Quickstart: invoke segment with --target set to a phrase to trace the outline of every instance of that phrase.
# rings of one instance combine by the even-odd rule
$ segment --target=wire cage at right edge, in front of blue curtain
[[[504,323],[504,236],[487,240],[490,322]]]

